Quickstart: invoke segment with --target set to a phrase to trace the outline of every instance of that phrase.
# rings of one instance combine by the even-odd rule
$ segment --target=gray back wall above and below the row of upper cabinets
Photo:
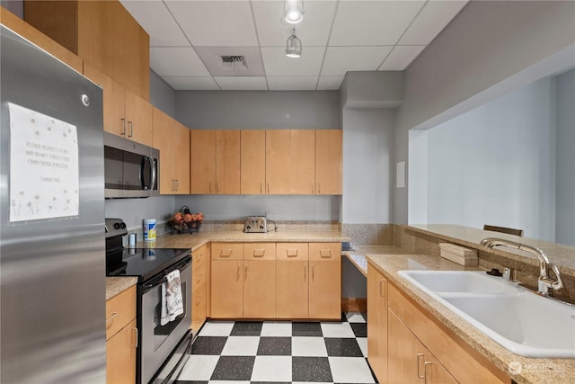
[[[340,129],[339,103],[335,91],[178,91],[176,116],[192,129]],[[266,213],[272,220],[337,221],[341,217],[341,196],[190,195],[178,196],[175,202],[203,211],[208,220]]]

